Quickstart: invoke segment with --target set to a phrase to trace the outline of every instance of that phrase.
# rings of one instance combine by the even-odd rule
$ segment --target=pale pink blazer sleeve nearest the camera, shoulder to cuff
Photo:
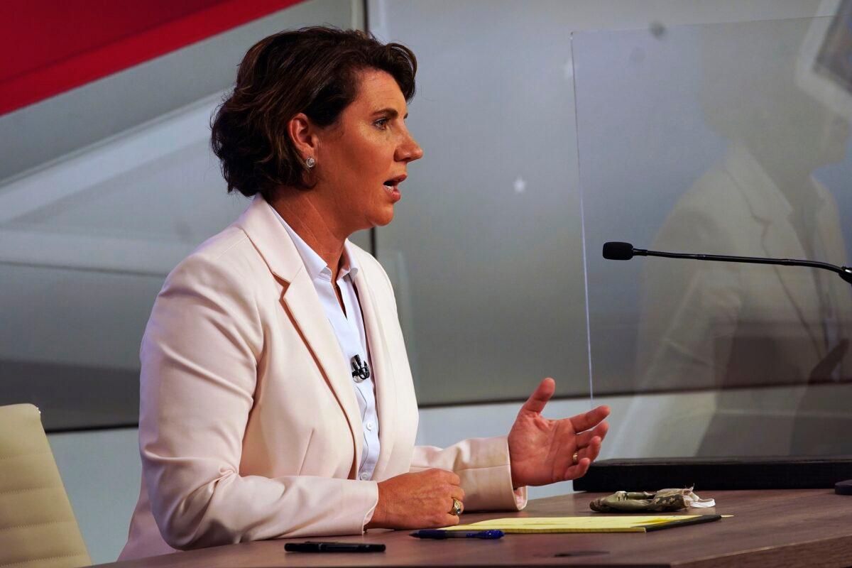
[[[190,256],[166,280],[141,347],[142,474],[171,547],[361,534],[377,484],[239,474],[264,349],[250,270]]]

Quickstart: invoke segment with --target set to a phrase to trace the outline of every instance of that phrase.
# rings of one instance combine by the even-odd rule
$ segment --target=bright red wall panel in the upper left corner
[[[299,1],[3,0],[0,114]]]

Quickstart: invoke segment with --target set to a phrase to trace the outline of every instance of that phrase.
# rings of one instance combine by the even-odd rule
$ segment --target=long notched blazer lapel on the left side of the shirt
[[[363,434],[351,371],[337,336],[325,317],[320,296],[317,295],[302,257],[271,206],[259,194],[239,218],[237,225],[248,235],[269,270],[288,283],[281,301],[346,416],[354,445],[350,477],[354,476],[361,461]]]

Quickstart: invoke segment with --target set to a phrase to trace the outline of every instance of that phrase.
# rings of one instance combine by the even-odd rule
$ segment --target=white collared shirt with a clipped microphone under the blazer
[[[275,211],[275,208],[271,205],[269,207]],[[337,286],[340,288],[343,306],[346,308],[346,313],[343,313],[340,303],[337,301],[334,286],[331,285],[331,269],[322,260],[322,257],[293,231],[287,221],[278,214],[278,211],[275,211],[275,215],[290,234],[293,244],[296,245],[296,250],[302,256],[302,261],[308,269],[308,275],[314,282],[317,294],[320,295],[320,303],[325,310],[325,316],[328,318],[335,336],[337,336],[337,342],[340,344],[341,351],[343,351],[344,359],[350,364],[354,356],[358,355],[361,361],[366,361],[370,366],[370,378],[363,382],[355,382],[350,374],[349,380],[355,390],[355,399],[358,399],[361,427],[364,430],[364,450],[361,453],[361,462],[358,465],[358,479],[365,481],[372,479],[379,452],[378,414],[376,412],[376,390],[373,386],[373,367],[370,352],[367,349],[361,305],[354,285],[354,278],[359,270],[355,256],[347,241],[343,247],[343,266],[340,273],[337,274]]]

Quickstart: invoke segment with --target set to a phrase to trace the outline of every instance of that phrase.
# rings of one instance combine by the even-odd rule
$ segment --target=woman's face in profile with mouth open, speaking
[[[351,234],[387,225],[400,200],[400,182],[409,162],[423,156],[406,129],[406,99],[387,72],[360,72],[355,100],[337,123],[317,133],[318,192]]]

